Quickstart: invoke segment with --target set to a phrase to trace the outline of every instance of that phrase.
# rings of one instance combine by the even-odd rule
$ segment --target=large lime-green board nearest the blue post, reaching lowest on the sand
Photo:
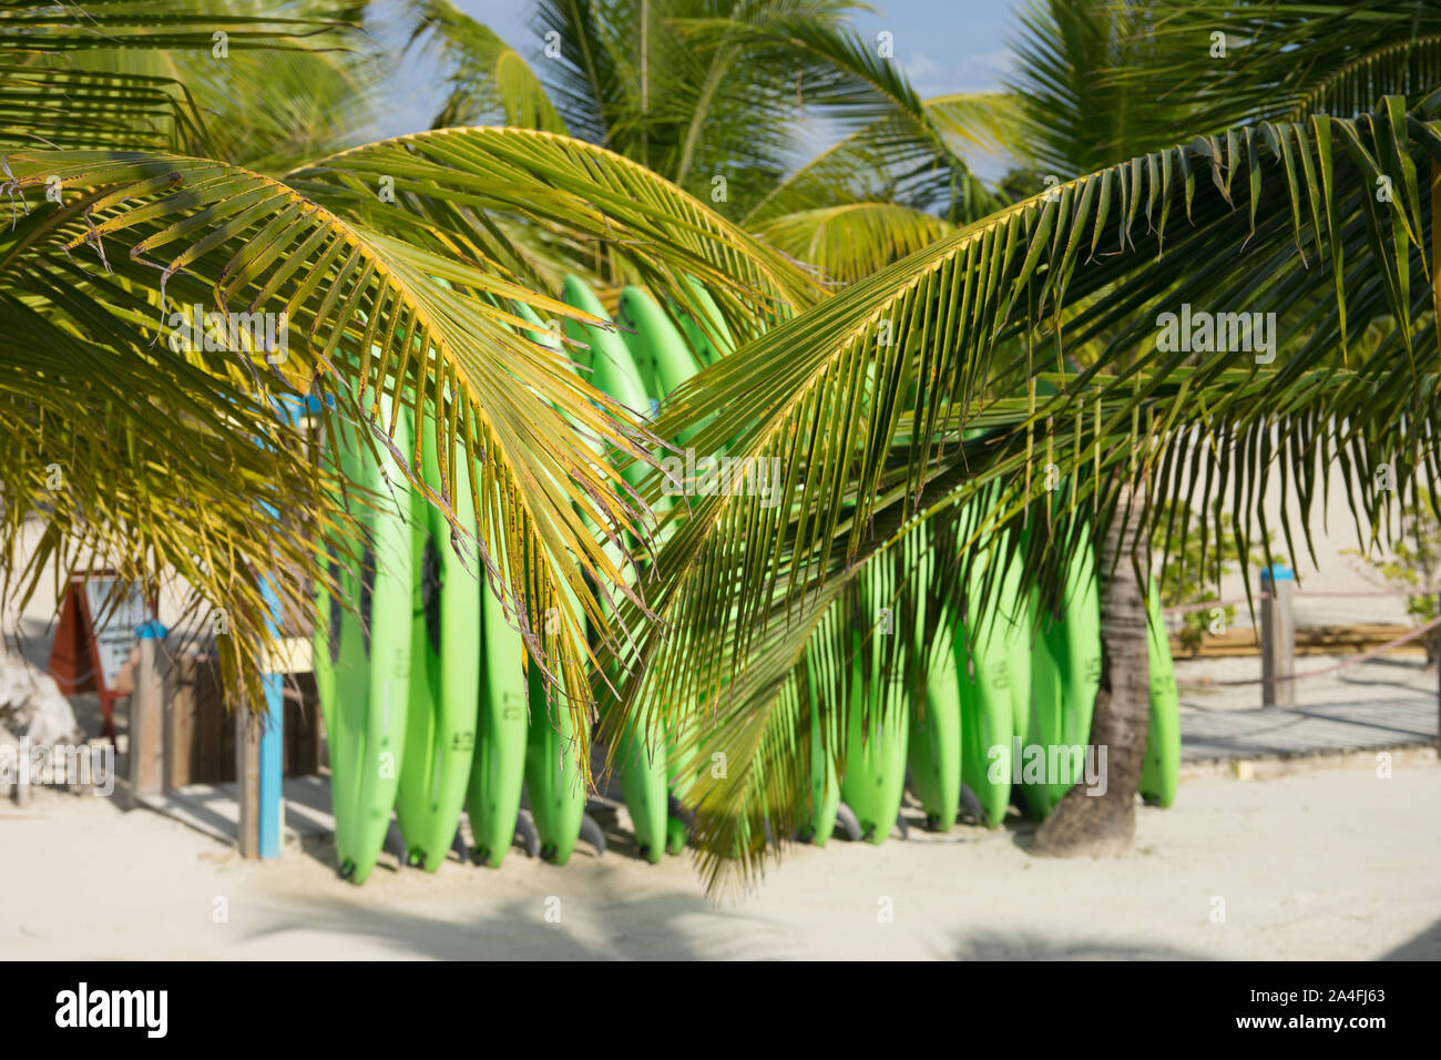
[[[380,420],[389,421],[389,398]],[[365,428],[367,430],[367,428]],[[401,414],[395,444],[411,446],[409,412]],[[342,554],[340,590],[354,606],[340,609],[331,653],[330,786],[340,874],[365,883],[391,826],[405,754],[411,684],[412,528],[411,486],[383,446],[372,453],[353,433],[342,440],[340,470],[370,490],[353,508],[362,541],[359,560]],[[331,609],[334,613],[334,609]],[[329,646],[329,645],[327,645]]]

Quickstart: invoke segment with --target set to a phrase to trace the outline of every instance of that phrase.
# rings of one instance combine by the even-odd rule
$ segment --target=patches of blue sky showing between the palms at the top
[[[454,0],[477,22],[483,22],[526,58],[536,49],[530,30],[532,4],[526,0]],[[944,92],[983,92],[1000,88],[1006,71],[1007,40],[1014,32],[1013,0],[902,0],[872,3],[873,14],[855,16],[856,29],[866,37],[886,30],[895,43],[895,58],[922,97]],[[399,4],[382,0],[376,4],[382,17],[393,19],[382,26],[380,40],[392,53],[399,53],[409,26],[395,19]],[[406,55],[393,72],[392,87],[379,101],[376,136],[401,136],[429,125],[440,110],[440,81],[422,52]],[[817,131],[816,138],[824,138]],[[817,147],[820,144],[816,144]],[[977,170],[987,172],[977,159]],[[997,167],[999,169],[999,167]]]

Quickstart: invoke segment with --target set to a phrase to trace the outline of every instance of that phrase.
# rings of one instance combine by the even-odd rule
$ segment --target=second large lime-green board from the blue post
[[[434,424],[429,420],[428,424]],[[434,427],[431,427],[434,430]],[[451,446],[451,466],[455,446]],[[464,450],[460,450],[464,459]],[[427,446],[425,485],[440,496],[441,470]],[[452,545],[445,516],[418,490],[415,509],[415,603],[411,640],[411,705],[395,813],[412,865],[434,873],[460,825],[476,748],[480,701],[480,570],[470,474],[455,470],[451,506],[464,535]],[[465,560],[457,555],[455,545]]]

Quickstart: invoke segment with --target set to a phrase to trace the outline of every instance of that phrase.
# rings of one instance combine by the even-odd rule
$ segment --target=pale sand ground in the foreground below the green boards
[[[150,811],[40,792],[0,805],[0,958],[1441,958],[1441,769],[1196,779],[1115,860],[1014,832],[798,848],[722,906],[689,858],[517,848],[499,871],[334,878],[329,844],[242,862]],[[392,862],[393,864],[393,862]],[[546,923],[548,898],[561,923]],[[893,923],[880,923],[889,897]],[[1212,923],[1213,900],[1225,923]],[[228,922],[216,923],[225,898]]]

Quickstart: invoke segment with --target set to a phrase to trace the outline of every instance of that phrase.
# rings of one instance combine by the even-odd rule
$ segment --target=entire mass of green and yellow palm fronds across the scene
[[[76,27],[0,0],[6,555],[49,512],[39,552],[6,565],[7,597],[56,555],[176,573],[195,607],[231,609],[232,675],[258,673],[262,573],[304,610],[329,577],[317,542],[346,518],[344,483],[274,415],[277,398],[314,394],[331,437],[389,450],[416,486],[435,446],[442,511],[455,476],[474,476],[493,587],[520,616],[563,616],[527,643],[578,720],[610,702],[592,675],[614,658],[607,725],[669,725],[687,769],[726,748],[729,774],[702,773],[690,796],[719,881],[759,867],[765,821],[790,834],[810,761],[798,705],[811,688],[827,712],[850,702],[846,652],[873,636],[879,571],[899,609],[924,594],[937,616],[1010,551],[1053,604],[1068,554],[1125,518],[1127,496],[1166,554],[1174,506],[1157,500],[1185,495],[1203,535],[1226,505],[1245,539],[1242,513],[1277,480],[1303,516],[1282,516],[1294,555],[1317,461],[1340,466],[1357,522],[1382,528],[1438,480],[1424,192],[1441,164],[1441,29],[1424,4],[1038,3],[1022,98],[1000,102],[921,100],[847,29],[850,4],[542,0],[561,53],[529,66],[427,3],[421,37],[454,74],[442,117],[530,127],[357,147],[308,104],[256,115],[246,140],[223,127],[223,76],[114,58],[205,55],[228,26],[236,52],[293,52],[294,75],[316,74],[311,100],[343,95],[353,68],[329,49],[354,35],[330,16],[354,12],[295,10],[199,19],[174,0],[99,0]],[[1196,39],[1218,22],[1219,66],[1209,30]],[[1146,91],[1161,71],[1186,91]],[[797,167],[801,107],[844,138]],[[1004,202],[964,151],[1017,128],[1017,159],[1058,180]],[[712,193],[716,176],[731,195]],[[599,323],[552,296],[571,268],[638,280],[697,320],[699,281],[738,348],[647,423],[507,307]],[[284,310],[290,355],[160,342],[193,303]],[[1225,314],[1226,342],[1161,339],[1192,309]],[[382,395],[438,427],[396,451]],[[775,461],[780,503],[692,498],[653,526],[660,440],[682,436]],[[638,489],[635,466],[653,469]],[[633,538],[660,542],[644,578]],[[984,603],[986,577],[976,591]],[[921,675],[945,636],[927,617],[878,665]]]

